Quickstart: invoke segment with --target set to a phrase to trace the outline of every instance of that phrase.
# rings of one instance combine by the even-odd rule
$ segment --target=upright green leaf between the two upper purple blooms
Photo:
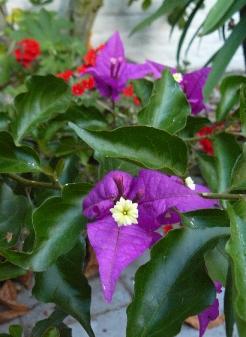
[[[186,125],[190,106],[172,74],[165,70],[155,81],[152,95],[146,107],[139,112],[141,124],[176,133]]]

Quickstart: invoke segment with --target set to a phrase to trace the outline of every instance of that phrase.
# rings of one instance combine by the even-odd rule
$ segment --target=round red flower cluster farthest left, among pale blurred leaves
[[[16,61],[24,68],[28,68],[40,53],[40,45],[34,39],[23,39],[17,42],[16,49],[14,50]]]

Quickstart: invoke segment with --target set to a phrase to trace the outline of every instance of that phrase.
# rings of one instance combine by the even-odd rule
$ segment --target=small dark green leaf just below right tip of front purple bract
[[[181,218],[182,223],[192,229],[230,227],[227,213],[218,208],[182,213]]]

